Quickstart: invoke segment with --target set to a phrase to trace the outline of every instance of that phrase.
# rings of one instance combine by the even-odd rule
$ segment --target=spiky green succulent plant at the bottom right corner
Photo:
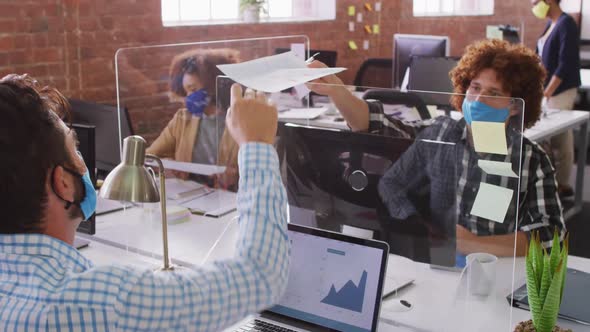
[[[526,256],[526,285],[532,320],[519,323],[515,332],[570,331],[555,325],[567,270],[568,237],[559,244],[559,235],[553,235],[551,254],[541,246],[538,232],[531,234]]]

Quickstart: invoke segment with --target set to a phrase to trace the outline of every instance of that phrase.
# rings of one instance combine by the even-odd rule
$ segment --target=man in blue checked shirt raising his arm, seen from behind
[[[237,254],[174,272],[93,267],[71,246],[95,200],[60,120],[66,105],[30,77],[0,80],[0,329],[216,331],[281,296],[287,201],[271,146],[277,112],[262,94],[233,86],[227,116],[240,145]]]

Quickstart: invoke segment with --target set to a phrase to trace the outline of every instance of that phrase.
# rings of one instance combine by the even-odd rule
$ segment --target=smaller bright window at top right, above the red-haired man
[[[494,0],[414,0],[414,16],[493,14]]]

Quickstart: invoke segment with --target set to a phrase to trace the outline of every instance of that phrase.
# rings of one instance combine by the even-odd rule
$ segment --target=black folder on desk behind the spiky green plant
[[[526,291],[526,284],[518,288],[506,298],[514,307],[530,310]],[[590,273],[579,270],[567,269],[563,298],[559,307],[559,318],[571,320],[576,323],[590,325],[590,310],[588,299],[590,298]]]

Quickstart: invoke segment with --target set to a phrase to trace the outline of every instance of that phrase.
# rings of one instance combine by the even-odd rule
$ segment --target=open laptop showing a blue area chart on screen
[[[291,268],[279,302],[238,331],[377,331],[389,246],[289,224]]]

